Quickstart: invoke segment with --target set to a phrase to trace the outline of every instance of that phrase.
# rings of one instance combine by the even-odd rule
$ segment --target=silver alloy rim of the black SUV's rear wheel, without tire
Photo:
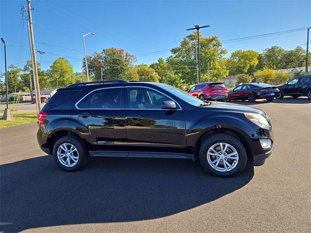
[[[57,149],[57,158],[63,166],[72,167],[78,163],[79,152],[72,144],[63,143]]]

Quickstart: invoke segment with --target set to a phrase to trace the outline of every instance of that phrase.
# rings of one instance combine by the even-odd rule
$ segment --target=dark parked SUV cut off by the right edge
[[[311,100],[311,75],[303,75],[291,79],[288,83],[278,86],[280,95],[278,99],[284,96],[292,96],[298,98],[299,96],[307,96]]]

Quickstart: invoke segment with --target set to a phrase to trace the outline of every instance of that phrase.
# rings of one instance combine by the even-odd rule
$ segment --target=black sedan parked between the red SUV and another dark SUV
[[[229,91],[226,101],[248,100],[249,102],[255,102],[257,99],[272,101],[279,94],[280,91],[277,86],[266,83],[245,83]]]

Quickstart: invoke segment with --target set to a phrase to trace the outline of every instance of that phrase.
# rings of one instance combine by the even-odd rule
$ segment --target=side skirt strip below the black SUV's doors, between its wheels
[[[175,158],[175,159],[193,160],[193,154],[169,153],[169,152],[93,150],[89,151],[89,155],[98,157]]]

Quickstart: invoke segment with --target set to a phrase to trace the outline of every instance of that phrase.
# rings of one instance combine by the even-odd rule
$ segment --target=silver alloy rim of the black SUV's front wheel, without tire
[[[216,171],[228,172],[238,165],[239,154],[230,144],[220,142],[207,150],[207,162]]]

